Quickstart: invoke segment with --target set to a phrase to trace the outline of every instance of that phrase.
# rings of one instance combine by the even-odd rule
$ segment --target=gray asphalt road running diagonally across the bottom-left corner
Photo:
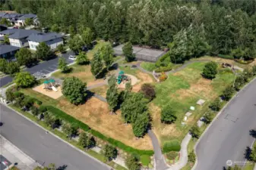
[[[65,170],[107,170],[105,164],[84,155],[42,128],[0,104],[2,136],[41,165],[67,165]]]

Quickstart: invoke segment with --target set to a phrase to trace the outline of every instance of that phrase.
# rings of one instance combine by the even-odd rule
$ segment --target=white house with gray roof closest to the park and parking
[[[49,45],[49,47],[54,50],[57,48],[58,45],[63,44],[62,35],[55,33],[55,32],[49,32],[49,33],[34,33],[31,34],[28,38],[28,43],[30,45],[30,49],[36,50],[37,45],[40,44],[40,42],[46,42],[46,45]]]

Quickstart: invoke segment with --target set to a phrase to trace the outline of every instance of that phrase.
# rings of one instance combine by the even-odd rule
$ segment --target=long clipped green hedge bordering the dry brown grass
[[[129,146],[123,144],[122,142],[117,141],[113,138],[108,138],[104,134],[101,134],[99,131],[95,131],[95,130],[91,129],[84,122],[81,122],[81,121],[75,119],[74,117],[68,115],[67,113],[63,112],[62,110],[59,110],[58,108],[55,108],[52,106],[41,106],[40,110],[48,110],[52,114],[55,114],[55,116],[57,116],[59,119],[62,119],[65,122],[72,123],[73,125],[81,128],[84,131],[89,131],[96,138],[100,138],[103,141],[108,141],[109,144],[112,144],[115,147],[119,147],[121,150],[125,150],[128,153],[134,153],[134,154],[138,154],[138,155],[149,155],[149,156],[153,155],[153,150],[137,150],[137,149],[134,149],[133,147],[129,147]]]

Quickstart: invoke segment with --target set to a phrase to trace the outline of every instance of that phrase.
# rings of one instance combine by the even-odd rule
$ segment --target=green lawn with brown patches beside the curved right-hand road
[[[204,65],[205,62],[191,63],[184,70],[169,74],[165,82],[156,84],[156,98],[153,100],[153,106],[159,110],[152,113],[153,127],[162,144],[172,139],[182,141],[189,128],[207,112],[210,102],[232,83],[234,79],[232,73],[223,72],[217,74],[213,80],[204,79],[201,76]],[[196,104],[199,99],[206,101],[204,106]],[[177,116],[175,124],[164,125],[159,121],[160,109],[166,104],[171,105],[175,110]],[[181,122],[191,106],[195,107],[195,110],[186,122],[187,125],[183,126]],[[154,107],[153,110],[156,110]]]

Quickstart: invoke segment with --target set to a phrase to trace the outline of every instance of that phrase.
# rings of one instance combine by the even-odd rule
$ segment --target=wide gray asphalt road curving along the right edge
[[[239,93],[201,138],[196,148],[196,170],[223,170],[226,161],[245,164],[245,150],[256,130],[256,81]]]

